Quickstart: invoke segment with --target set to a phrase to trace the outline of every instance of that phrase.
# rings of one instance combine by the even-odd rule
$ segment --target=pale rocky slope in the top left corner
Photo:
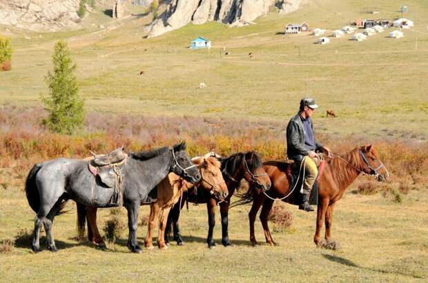
[[[79,0],[0,0],[0,24],[29,30],[78,28]]]

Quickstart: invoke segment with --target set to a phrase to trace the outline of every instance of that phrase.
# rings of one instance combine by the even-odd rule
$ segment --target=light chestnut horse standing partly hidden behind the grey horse
[[[200,169],[202,176],[196,187],[204,189],[213,196],[213,198],[217,198],[217,200],[224,200],[228,194],[228,190],[226,182],[224,182],[222,177],[222,171],[220,171],[220,161],[215,157],[210,157],[209,154],[203,157],[192,158],[192,161]],[[168,174],[157,186],[157,200],[150,204],[142,204],[150,205],[148,232],[144,240],[144,244],[148,249],[153,249],[152,235],[157,223],[160,224],[157,245],[159,249],[165,249],[167,247],[164,241],[164,231],[168,213],[171,207],[177,203],[182,193],[186,192],[187,189],[192,186],[190,182],[187,182],[179,176]],[[161,216],[160,222],[159,211]],[[80,239],[84,238],[86,221],[88,222],[88,240],[98,247],[106,247],[106,242],[104,242],[99,234],[97,227],[97,207],[84,207],[83,205],[77,204],[77,230]]]

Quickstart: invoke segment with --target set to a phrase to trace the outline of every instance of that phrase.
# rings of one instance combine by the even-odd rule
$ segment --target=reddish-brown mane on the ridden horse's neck
[[[362,165],[362,160],[359,153],[360,147],[356,147],[346,154],[340,155],[341,158],[347,160],[346,163],[341,158],[331,158],[327,161],[330,165],[331,172],[333,173],[333,179],[337,184],[344,184],[347,182],[350,176],[350,172],[354,168],[360,168]]]

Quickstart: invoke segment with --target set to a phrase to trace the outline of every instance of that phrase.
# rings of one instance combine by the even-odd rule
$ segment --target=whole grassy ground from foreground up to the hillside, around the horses
[[[333,149],[336,139],[342,144],[347,140],[391,142],[391,149],[382,145],[382,153],[389,154],[387,166],[396,166],[393,182],[400,178],[400,182],[413,184],[406,193],[385,190],[364,195],[358,193],[358,185],[367,178],[359,177],[335,210],[332,234],[340,244],[335,251],[317,249],[313,244],[315,213],[303,213],[290,205],[287,209],[293,214],[293,224],[284,231],[273,231],[279,247],[251,247],[249,207],[236,207],[229,222],[233,247],[220,244],[217,216],[217,248],[209,250],[205,244],[206,209],[191,205],[180,220],[184,247],[172,244],[166,251],[130,254],[128,232],[124,231],[108,251],[101,251],[75,240],[75,209],[70,202],[70,213],[56,218],[54,225],[59,253],[32,254],[25,237],[19,237],[10,253],[0,253],[0,282],[426,282],[426,172],[418,172],[425,176],[422,179],[411,172],[400,174],[400,168],[411,171],[417,160],[405,163],[409,157],[403,156],[408,151],[392,142],[402,140],[418,149],[428,138],[428,2],[407,1],[409,13],[405,17],[413,20],[415,27],[405,30],[402,39],[389,39],[384,32],[362,42],[351,41],[348,35],[332,39],[329,45],[317,45],[309,34],[281,34],[289,21],[335,30],[358,18],[400,17],[400,1],[376,1],[380,14],[364,14],[373,8],[372,3],[313,0],[286,16],[272,10],[257,19],[256,25],[244,28],[226,28],[220,23],[188,25],[154,39],[143,38],[150,15],[112,21],[104,9],[84,19],[86,28],[72,32],[45,34],[0,26],[1,34],[6,28],[11,30],[14,47],[12,70],[0,72],[0,240],[14,240],[33,229],[34,213],[22,191],[23,180],[30,163],[55,156],[41,146],[48,144],[46,138],[81,143],[79,150],[77,146],[64,149],[67,155],[81,156],[85,154],[82,151],[93,149],[93,140],[100,150],[106,150],[119,143],[118,136],[131,136],[139,145],[158,145],[170,142],[177,133],[179,138],[189,137],[191,154],[211,148],[230,154],[252,145],[257,150],[269,149],[262,154],[276,159],[284,151],[283,146],[275,147],[284,139],[284,123],[297,111],[300,98],[307,95],[321,105],[315,113],[315,126]],[[100,30],[99,24],[106,29]],[[211,39],[213,48],[188,50],[197,36]],[[47,91],[43,76],[52,67],[53,45],[59,39],[70,45],[89,112],[88,134],[70,140],[49,136],[35,127],[41,115],[39,95]],[[220,58],[223,47],[231,54]],[[140,76],[142,70],[145,74]],[[199,89],[201,82],[206,83],[206,89]],[[338,118],[326,118],[326,109],[333,109]],[[99,112],[113,113],[113,122],[106,122],[108,115]],[[115,137],[110,138],[109,125],[120,123]],[[141,127],[137,127],[139,123]],[[246,137],[246,129],[251,129],[252,136]],[[14,132],[18,132],[17,142],[6,143],[14,138]],[[105,136],[109,142],[99,141]],[[270,147],[264,144],[264,136],[267,144],[274,140]],[[239,138],[242,143],[237,143]],[[32,151],[39,144],[46,152]],[[275,148],[278,155],[271,152]],[[55,150],[63,152],[57,148],[52,152]],[[394,152],[398,156],[394,157]],[[99,227],[110,218],[109,213],[101,209]],[[141,213],[148,214],[148,207]],[[125,209],[121,218],[126,221]],[[140,243],[145,233],[146,227],[139,227]],[[264,242],[258,220],[256,237]],[[44,237],[41,244],[46,247]]]

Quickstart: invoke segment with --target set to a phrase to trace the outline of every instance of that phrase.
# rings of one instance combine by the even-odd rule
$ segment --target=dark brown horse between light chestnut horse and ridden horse
[[[231,197],[235,189],[240,185],[240,180],[245,179],[254,187],[260,187],[260,189],[263,190],[271,187],[271,180],[269,180],[266,172],[262,168],[262,160],[255,151],[233,154],[228,158],[220,158],[220,160],[222,162],[223,178],[226,180],[228,189],[227,198],[219,203],[220,214],[222,216],[222,244],[224,247],[227,247],[231,245],[228,238],[228,210]],[[195,194],[184,193],[182,198],[189,202],[206,203],[206,209],[208,210],[208,237],[206,238],[206,243],[209,248],[214,247],[213,230],[215,226],[215,207],[217,205],[217,200],[209,194],[204,193],[204,191],[197,191]],[[171,230],[171,223],[173,224],[174,240],[177,241],[178,245],[183,244],[178,226],[179,213],[183,205],[184,203],[182,201],[175,204],[169,213],[168,224],[166,224],[166,235],[168,235],[168,232]],[[166,241],[168,242],[168,238],[166,238]]]

